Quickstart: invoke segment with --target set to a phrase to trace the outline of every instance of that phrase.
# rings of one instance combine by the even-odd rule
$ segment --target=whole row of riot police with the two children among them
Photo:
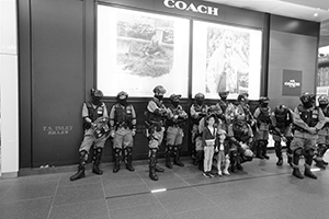
[[[186,123],[191,123],[191,155],[193,164],[205,177],[230,175],[242,171],[242,164],[253,159],[270,159],[266,153],[269,137],[273,136],[276,165],[283,165],[282,146],[286,146],[287,163],[293,175],[298,178],[308,176],[317,178],[310,171],[316,166],[326,169],[328,163],[324,155],[329,148],[329,97],[320,95],[318,105],[316,96],[303,93],[300,104],[295,110],[280,104],[274,111],[269,106],[270,99],[261,96],[259,106],[252,114],[248,104],[248,93],[241,93],[232,104],[227,100],[228,91],[219,91],[216,104],[206,105],[205,95],[197,93],[189,111],[180,104],[181,95],[171,94],[170,104],[163,104],[166,89],[157,85],[154,97],[145,111],[145,135],[148,138],[149,177],[158,181],[157,173],[163,172],[157,163],[158,152],[164,139],[166,166],[173,164],[184,166],[181,151]],[[124,91],[116,96],[117,103],[107,113],[106,105],[101,101],[103,93],[91,90],[91,102],[82,106],[84,136],[79,148],[80,162],[78,171],[70,177],[76,181],[84,177],[84,170],[93,148],[92,172],[101,175],[102,151],[107,138],[113,139],[114,168],[120,171],[124,161],[128,171],[132,164],[134,136],[136,135],[136,113],[127,102],[128,94]],[[166,137],[166,138],[163,138]],[[304,157],[304,174],[299,171],[299,159]]]

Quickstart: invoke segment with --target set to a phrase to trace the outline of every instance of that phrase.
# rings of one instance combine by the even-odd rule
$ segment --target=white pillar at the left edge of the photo
[[[0,0],[1,177],[19,172],[19,72],[16,0]]]

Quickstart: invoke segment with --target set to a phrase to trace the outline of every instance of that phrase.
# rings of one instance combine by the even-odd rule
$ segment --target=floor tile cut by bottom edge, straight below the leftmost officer
[[[105,200],[55,206],[48,219],[110,219]]]

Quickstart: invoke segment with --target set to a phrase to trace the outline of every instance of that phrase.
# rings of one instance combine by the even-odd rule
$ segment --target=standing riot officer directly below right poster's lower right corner
[[[257,107],[253,113],[258,126],[256,158],[269,160],[270,157],[266,154],[266,150],[269,145],[269,127],[271,124],[270,99],[268,96],[261,96],[259,103],[259,107]]]

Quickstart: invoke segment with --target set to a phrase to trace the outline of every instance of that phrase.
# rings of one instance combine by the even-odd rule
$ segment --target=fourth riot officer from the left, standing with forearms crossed
[[[179,166],[184,166],[180,160],[183,143],[183,126],[189,118],[186,112],[180,105],[180,94],[172,94],[170,96],[169,118],[167,119],[167,142],[166,142],[166,166],[172,169],[173,163]]]

